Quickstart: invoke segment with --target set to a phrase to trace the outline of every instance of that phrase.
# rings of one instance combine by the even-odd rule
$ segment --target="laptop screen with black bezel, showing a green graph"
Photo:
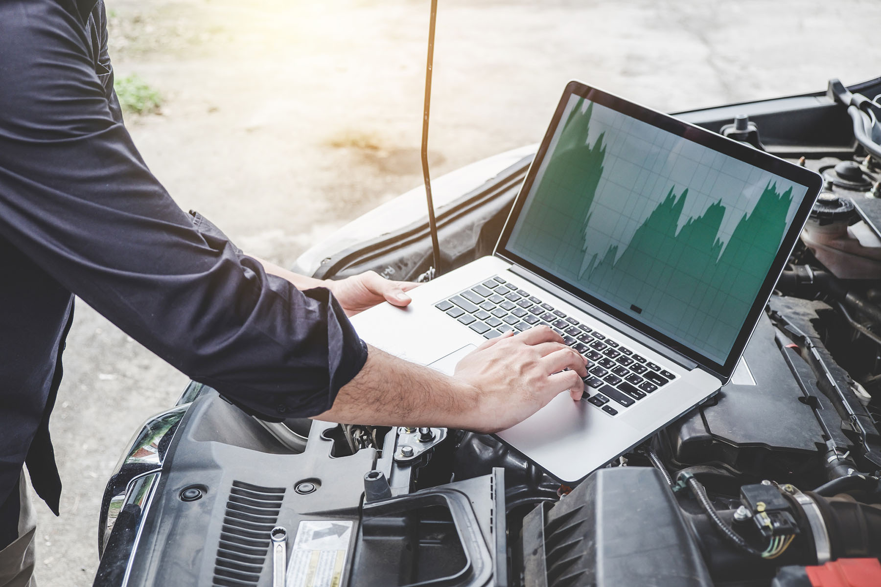
[[[706,131],[663,128],[615,100],[564,97],[505,251],[724,365],[809,186],[768,160],[795,165],[765,154],[754,165],[689,136]]]

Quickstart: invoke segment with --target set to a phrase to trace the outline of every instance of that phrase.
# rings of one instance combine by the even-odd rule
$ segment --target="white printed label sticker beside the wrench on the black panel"
[[[351,520],[304,520],[293,540],[285,587],[339,587],[352,539]]]

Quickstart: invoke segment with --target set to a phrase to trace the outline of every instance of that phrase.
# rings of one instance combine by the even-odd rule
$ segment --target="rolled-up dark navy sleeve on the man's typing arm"
[[[316,415],[366,361],[329,290],[196,230],[111,113],[82,23],[0,3],[0,235],[147,349],[272,418]]]

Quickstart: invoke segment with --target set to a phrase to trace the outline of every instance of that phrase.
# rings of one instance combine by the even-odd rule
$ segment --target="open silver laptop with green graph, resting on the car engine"
[[[498,437],[578,481],[731,377],[795,246],[815,172],[570,82],[492,256],[352,320],[374,346],[452,373],[506,330],[548,325],[590,360]]]

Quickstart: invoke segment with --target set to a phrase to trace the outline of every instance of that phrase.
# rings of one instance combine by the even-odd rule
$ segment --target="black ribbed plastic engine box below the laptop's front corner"
[[[700,549],[657,470],[600,469],[523,520],[524,587],[709,587]]]

